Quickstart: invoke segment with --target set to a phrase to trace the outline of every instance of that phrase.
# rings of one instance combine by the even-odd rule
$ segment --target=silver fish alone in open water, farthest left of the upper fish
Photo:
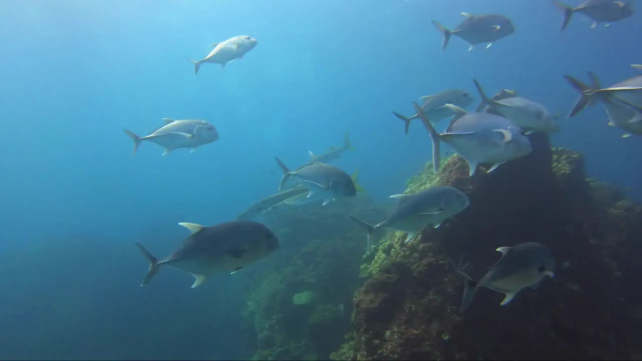
[[[162,146],[165,148],[162,155],[168,155],[169,152],[178,148],[189,148],[189,152],[193,153],[199,146],[218,140],[216,128],[207,121],[199,119],[174,120],[171,118],[162,118],[162,120],[165,125],[144,137],[139,137],[130,130],[123,129],[125,134],[134,140],[132,158],[142,141],[151,141]]]

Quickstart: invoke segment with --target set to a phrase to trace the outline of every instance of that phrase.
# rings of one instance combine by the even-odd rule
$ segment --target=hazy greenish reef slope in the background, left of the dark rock
[[[244,286],[252,290],[243,311],[256,330],[252,359],[326,360],[343,342],[351,298],[363,282],[359,267],[366,243],[352,214],[381,218],[385,209],[362,196],[324,207],[284,207],[266,216],[281,249],[266,260],[267,273],[252,274]]]

